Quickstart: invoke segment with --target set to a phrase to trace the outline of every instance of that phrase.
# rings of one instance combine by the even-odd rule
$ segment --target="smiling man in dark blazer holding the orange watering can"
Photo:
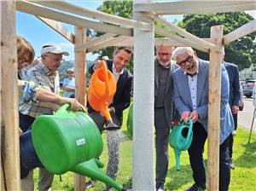
[[[125,68],[131,60],[132,50],[130,48],[116,48],[113,51],[113,60],[107,61],[108,70],[113,73],[113,76],[117,82],[117,90],[113,96],[113,102],[109,106],[109,110],[113,119],[113,123],[117,124],[118,127],[107,127],[107,120],[101,115],[94,111],[90,104],[88,104],[88,112],[90,117],[96,122],[99,130],[107,130],[107,141],[108,141],[108,167],[107,175],[112,177],[114,180],[117,177],[119,170],[119,141],[120,132],[119,129],[123,122],[123,111],[125,108],[130,106],[131,102],[131,84],[132,75]],[[88,72],[93,73],[98,67],[98,62],[88,69]],[[107,185],[106,190],[110,190]]]

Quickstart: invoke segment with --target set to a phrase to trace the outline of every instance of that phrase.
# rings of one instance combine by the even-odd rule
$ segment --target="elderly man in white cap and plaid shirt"
[[[59,94],[60,82],[57,69],[61,66],[62,55],[69,54],[55,44],[44,45],[41,49],[41,61],[38,61],[38,64],[26,71],[27,80],[31,80],[35,84]],[[53,114],[52,107],[49,107],[49,104],[45,102],[29,102],[21,106],[20,126],[26,130],[29,129],[33,121],[41,114]],[[50,190],[53,179],[53,174],[44,168],[40,168],[38,189],[40,191]],[[27,177],[21,179],[21,189],[26,191],[34,190],[32,171]]]

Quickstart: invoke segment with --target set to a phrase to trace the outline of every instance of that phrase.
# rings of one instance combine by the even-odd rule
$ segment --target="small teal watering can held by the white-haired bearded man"
[[[188,150],[193,139],[193,121],[189,119],[189,124],[181,121],[180,125],[175,126],[169,136],[169,144],[174,149],[176,159],[176,169],[180,170],[179,159],[181,151]]]

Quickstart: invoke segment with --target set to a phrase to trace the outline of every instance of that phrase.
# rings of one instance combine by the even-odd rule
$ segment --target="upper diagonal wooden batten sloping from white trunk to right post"
[[[213,43],[208,43],[207,41],[203,40],[202,38],[198,38],[195,35],[186,32],[185,30],[181,29],[178,26],[173,25],[171,22],[168,22],[160,15],[154,15],[154,20],[158,20],[162,25],[169,27],[173,32],[177,32],[178,35],[183,36],[184,38],[188,38],[189,40],[193,41],[194,43],[199,43],[201,46],[205,47],[206,49],[218,49]]]

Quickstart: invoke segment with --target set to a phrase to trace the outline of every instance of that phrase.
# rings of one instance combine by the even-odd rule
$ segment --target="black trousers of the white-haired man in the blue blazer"
[[[203,160],[207,131],[199,122],[193,125],[193,141],[189,147],[189,161],[193,178],[198,186],[206,184],[206,168]],[[229,137],[219,146],[219,190],[227,191],[230,185]]]

